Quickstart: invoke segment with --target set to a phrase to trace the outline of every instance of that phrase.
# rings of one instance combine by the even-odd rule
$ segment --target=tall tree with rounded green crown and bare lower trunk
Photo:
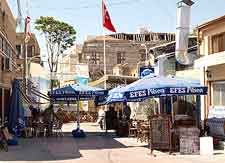
[[[51,74],[56,73],[59,56],[63,54],[64,50],[73,45],[76,39],[76,31],[69,24],[48,16],[41,16],[37,19],[35,29],[45,37],[49,69]],[[54,82],[51,78],[51,90],[53,86]]]

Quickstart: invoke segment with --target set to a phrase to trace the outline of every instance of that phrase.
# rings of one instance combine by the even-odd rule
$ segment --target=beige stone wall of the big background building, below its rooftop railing
[[[145,42],[131,41],[128,39],[117,39],[106,36],[106,73],[113,74],[113,68],[120,65],[125,66],[126,72],[121,75],[133,76],[134,69],[140,62],[145,60],[146,49],[168,42],[167,40],[152,40]],[[82,62],[89,64],[89,72],[92,80],[97,80],[104,75],[104,43],[103,36],[86,40],[82,50]],[[145,46],[143,46],[143,44]],[[87,57],[89,60],[87,61]],[[121,56],[121,57],[119,57]],[[119,59],[121,58],[121,59]],[[121,61],[121,62],[120,62]],[[129,73],[127,71],[129,70]]]

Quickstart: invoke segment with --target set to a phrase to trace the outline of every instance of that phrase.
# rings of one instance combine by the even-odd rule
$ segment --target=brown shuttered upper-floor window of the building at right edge
[[[225,51],[225,32],[212,36],[212,53]]]

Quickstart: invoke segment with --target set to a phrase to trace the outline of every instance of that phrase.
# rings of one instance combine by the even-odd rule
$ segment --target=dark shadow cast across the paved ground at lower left
[[[80,150],[129,148],[116,140],[113,132],[86,132],[86,138],[73,138],[71,132],[63,137],[19,139],[9,152],[0,151],[0,161],[56,161],[83,157]]]

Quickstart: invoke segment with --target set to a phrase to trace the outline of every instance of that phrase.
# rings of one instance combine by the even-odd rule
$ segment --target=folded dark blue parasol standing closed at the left
[[[8,128],[10,132],[18,135],[24,127],[24,108],[20,94],[20,81],[15,79],[12,83],[12,94],[8,110]]]

